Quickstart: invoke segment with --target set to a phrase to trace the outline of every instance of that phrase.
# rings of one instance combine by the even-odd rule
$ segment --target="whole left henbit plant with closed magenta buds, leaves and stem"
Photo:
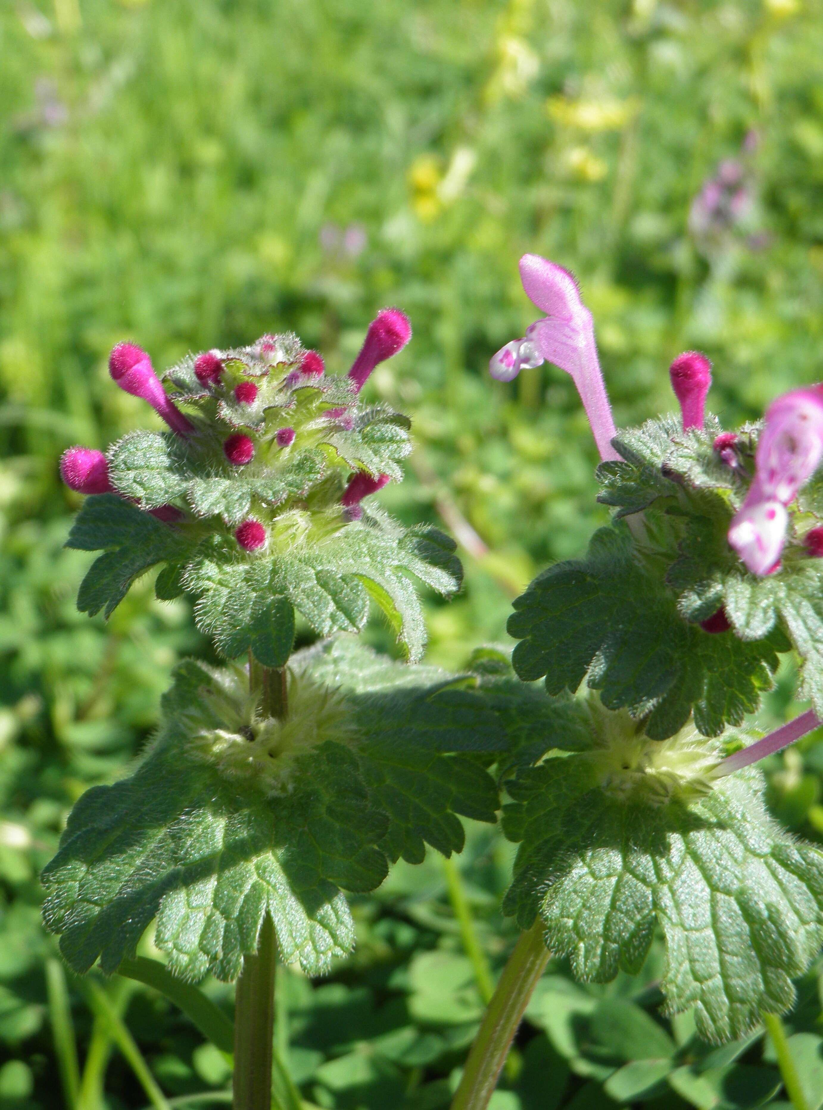
[[[275,957],[327,970],[353,945],[341,888],[374,889],[425,844],[460,850],[455,814],[495,819],[491,756],[455,754],[504,746],[478,694],[345,640],[292,654],[295,610],[321,636],[358,632],[372,598],[416,659],[410,576],[441,593],[460,583],[452,541],[368,502],[401,477],[409,421],[359,393],[409,337],[385,310],[347,377],[327,376],[295,336],[264,335],[188,357],[163,382],[119,344],[112,377],[170,431],[62,460],[67,484],[89,494],[68,544],[104,552],[80,609],[110,614],[163,564],[158,597],[192,594],[199,627],[232,662],[182,663],[137,769],[80,798],[43,874],[44,920],[81,973],[131,960],[157,919],[173,972],[239,977],[241,1110],[270,1108]]]

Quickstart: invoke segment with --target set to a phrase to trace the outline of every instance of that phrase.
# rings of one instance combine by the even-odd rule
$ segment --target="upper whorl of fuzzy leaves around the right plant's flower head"
[[[650,736],[673,735],[691,712],[714,736],[757,708],[777,653],[793,647],[801,696],[823,715],[823,562],[802,544],[823,521],[823,485],[801,491],[780,569],[750,574],[726,536],[754,473],[759,427],[737,432],[734,467],[713,450],[720,431],[709,417],[705,430],[683,433],[673,416],[621,431],[622,461],[598,470],[614,525],[514,603],[521,678],[545,675],[558,693],[585,677],[606,706],[648,716]],[[705,632],[701,623],[721,608],[731,629]]]

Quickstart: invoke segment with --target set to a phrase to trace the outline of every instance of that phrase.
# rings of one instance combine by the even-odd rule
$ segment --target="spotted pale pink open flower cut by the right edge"
[[[729,543],[756,575],[780,558],[790,505],[823,460],[823,395],[792,390],[769,407],[755,454],[755,474]]]

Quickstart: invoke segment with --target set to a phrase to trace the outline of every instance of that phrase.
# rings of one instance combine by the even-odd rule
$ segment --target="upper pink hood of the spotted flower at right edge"
[[[757,441],[755,483],[762,496],[791,504],[821,458],[823,396],[814,389],[784,393],[766,411]]]

